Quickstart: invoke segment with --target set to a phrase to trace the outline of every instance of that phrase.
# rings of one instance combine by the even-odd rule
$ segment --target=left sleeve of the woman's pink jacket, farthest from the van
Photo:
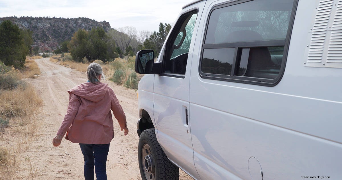
[[[69,130],[69,127],[73,123],[80,105],[81,105],[81,101],[80,101],[79,97],[77,95],[69,92],[68,110],[64,116],[64,120],[62,122],[60,129],[57,132],[57,135],[64,136],[65,133]]]

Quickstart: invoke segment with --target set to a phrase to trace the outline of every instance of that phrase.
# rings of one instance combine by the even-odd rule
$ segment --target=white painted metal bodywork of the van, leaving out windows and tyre
[[[139,89],[142,88],[139,106],[153,112],[160,146],[174,164],[197,180],[340,178],[342,69],[313,67],[307,62],[308,51],[315,40],[312,29],[318,9],[332,3],[333,14],[336,8],[342,12],[341,0],[295,0],[298,6],[290,43],[285,45],[288,45],[287,54],[271,55],[278,65],[286,61],[282,77],[273,87],[240,83],[239,79],[203,78],[200,74],[211,10],[230,2],[249,0],[206,0],[186,5],[180,16],[197,8],[198,17],[185,75],[149,75],[139,83]],[[332,25],[331,20],[328,25]],[[338,28],[342,33],[342,23]],[[325,41],[329,45],[331,40]],[[342,43],[337,40],[336,43],[342,49]],[[228,43],[222,44],[227,46],[224,48],[232,48]],[[207,49],[218,48],[214,43],[210,45]],[[166,44],[158,62],[163,59],[165,47]],[[324,57],[328,50],[327,46],[322,51]],[[235,76],[233,71],[231,74]],[[154,78],[150,78],[152,76]],[[146,100],[152,98],[153,88],[151,91],[148,87],[151,85],[154,86],[154,102]],[[142,96],[146,99],[142,100]],[[143,103],[147,105],[141,105]],[[254,163],[251,159],[255,159]]]

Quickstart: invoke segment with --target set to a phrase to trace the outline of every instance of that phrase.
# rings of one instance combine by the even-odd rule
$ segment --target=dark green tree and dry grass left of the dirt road
[[[37,136],[42,100],[24,78],[40,74],[31,45],[32,31],[9,20],[0,24],[0,179],[16,180],[25,159],[22,154]],[[33,179],[34,166],[29,164]]]

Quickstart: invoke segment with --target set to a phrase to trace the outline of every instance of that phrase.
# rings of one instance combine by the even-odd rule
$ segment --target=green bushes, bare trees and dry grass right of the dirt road
[[[158,56],[170,29],[170,24],[160,23],[158,32],[142,31],[140,37],[133,27],[120,28],[120,32],[111,29],[107,33],[102,28],[79,29],[70,41],[60,43],[54,51],[56,56],[50,60],[81,72],[87,71],[90,62],[96,62],[117,85],[137,89],[143,75],[134,70],[136,52],[153,49]]]

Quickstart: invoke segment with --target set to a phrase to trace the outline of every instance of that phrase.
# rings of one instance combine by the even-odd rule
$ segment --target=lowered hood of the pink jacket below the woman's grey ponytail
[[[68,92],[97,103],[103,99],[107,89],[108,85],[105,83],[93,84],[91,82],[85,82],[70,89]]]

